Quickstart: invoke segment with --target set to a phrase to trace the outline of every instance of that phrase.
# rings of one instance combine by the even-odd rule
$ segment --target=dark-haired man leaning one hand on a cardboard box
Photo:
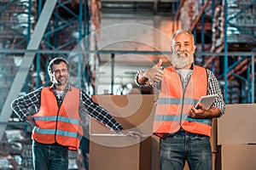
[[[68,150],[78,150],[83,136],[81,117],[87,113],[116,133],[138,137],[140,133],[124,130],[108,111],[97,105],[84,91],[68,83],[67,59],[49,62],[52,85],[15,99],[11,103],[21,121],[33,126],[32,156],[35,170],[67,170]],[[35,108],[31,112],[28,108]]]

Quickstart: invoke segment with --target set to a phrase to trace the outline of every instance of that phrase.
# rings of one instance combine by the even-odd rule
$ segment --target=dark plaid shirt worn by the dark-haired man
[[[51,86],[55,93],[54,86]],[[15,99],[11,103],[12,109],[15,111],[15,114],[20,118],[21,121],[26,119],[26,116],[33,115],[37,113],[40,109],[41,104],[41,90],[42,88],[38,88],[37,90],[31,92],[30,94],[26,94],[21,96],[18,99]],[[62,94],[61,98],[57,98],[58,105],[61,105],[65,94],[67,91],[71,90],[71,86],[68,85],[64,90],[64,94]],[[55,93],[56,96],[56,93]],[[84,117],[81,114],[88,113],[90,116],[95,118],[97,121],[102,122],[102,124],[109,127],[111,130],[118,132],[123,129],[123,127],[117,122],[113,116],[111,116],[108,111],[103,109],[100,105],[96,104],[90,96],[85,93],[85,91],[80,91],[80,105],[79,105],[79,115],[80,117]],[[83,120],[84,121],[84,120]]]

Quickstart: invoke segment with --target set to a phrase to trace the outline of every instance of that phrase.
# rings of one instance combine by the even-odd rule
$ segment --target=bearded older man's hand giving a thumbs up
[[[160,65],[162,65],[162,59],[159,59],[159,62],[154,65],[151,69],[148,69],[144,73],[144,77],[147,77],[148,80],[153,82],[160,82],[164,76],[163,71],[161,71]]]

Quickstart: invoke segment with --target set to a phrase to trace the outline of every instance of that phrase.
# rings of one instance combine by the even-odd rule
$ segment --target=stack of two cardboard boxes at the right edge
[[[255,169],[256,105],[226,105],[218,119],[218,144],[221,147],[221,169]]]

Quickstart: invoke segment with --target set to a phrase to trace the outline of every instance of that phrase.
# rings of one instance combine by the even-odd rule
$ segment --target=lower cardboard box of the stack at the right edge
[[[255,169],[256,144],[221,145],[221,169]]]

